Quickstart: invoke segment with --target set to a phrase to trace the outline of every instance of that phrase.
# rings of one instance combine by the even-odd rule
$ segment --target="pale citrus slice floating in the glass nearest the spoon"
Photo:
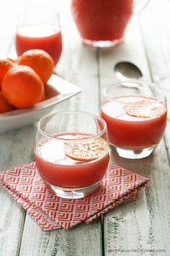
[[[151,104],[150,104],[151,103]],[[129,116],[151,118],[153,116],[161,116],[166,111],[164,103],[155,103],[151,99],[143,101],[135,101],[124,107],[126,114]]]

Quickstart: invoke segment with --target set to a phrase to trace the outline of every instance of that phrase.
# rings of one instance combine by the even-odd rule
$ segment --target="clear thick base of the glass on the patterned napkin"
[[[87,195],[90,195],[94,190],[99,187],[102,181],[99,181],[91,186],[88,187],[79,187],[79,188],[69,188],[69,187],[56,187],[48,182],[43,181],[50,189],[55,192],[55,195],[58,197],[63,197],[67,199],[78,199],[82,197],[86,197]]]

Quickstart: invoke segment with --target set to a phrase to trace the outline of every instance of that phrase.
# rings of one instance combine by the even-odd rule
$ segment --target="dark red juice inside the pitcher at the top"
[[[133,0],[72,0],[73,19],[86,40],[121,40]]]

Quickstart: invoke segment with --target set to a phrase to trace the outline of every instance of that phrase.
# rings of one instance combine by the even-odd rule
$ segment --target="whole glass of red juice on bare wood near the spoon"
[[[166,97],[160,86],[127,81],[104,89],[101,116],[107,123],[112,149],[123,158],[145,158],[164,135]]]

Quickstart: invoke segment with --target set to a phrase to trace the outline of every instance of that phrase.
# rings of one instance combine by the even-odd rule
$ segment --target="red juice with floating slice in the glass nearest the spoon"
[[[161,140],[167,111],[165,104],[154,98],[132,95],[104,103],[101,116],[107,123],[110,144],[120,148],[148,148]]]

